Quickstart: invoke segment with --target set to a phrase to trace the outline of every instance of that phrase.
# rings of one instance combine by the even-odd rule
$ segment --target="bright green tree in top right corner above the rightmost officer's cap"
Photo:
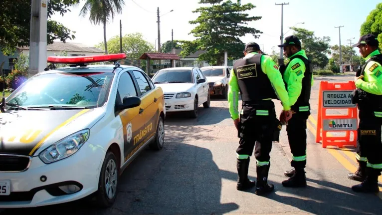
[[[361,25],[360,32],[361,35],[372,33],[378,36],[380,49],[382,49],[382,3],[377,4],[376,8],[369,13],[366,21]]]

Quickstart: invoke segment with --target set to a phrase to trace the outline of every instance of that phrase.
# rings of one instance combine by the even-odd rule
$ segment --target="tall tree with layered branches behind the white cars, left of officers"
[[[250,21],[255,21],[261,16],[249,16],[245,11],[255,8],[252,3],[241,4],[240,0],[199,0],[201,6],[194,13],[200,13],[191,24],[198,24],[190,33],[196,39],[185,41],[182,45],[181,56],[187,56],[196,50],[206,52],[199,56],[199,60],[205,60],[212,65],[221,65],[224,61],[224,51],[228,52],[228,59],[237,59],[243,56],[245,44],[239,37],[252,34],[258,38],[262,33],[253,27],[245,26]]]

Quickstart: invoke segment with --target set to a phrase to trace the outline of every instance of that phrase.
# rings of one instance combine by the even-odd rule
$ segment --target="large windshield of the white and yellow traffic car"
[[[113,72],[57,72],[35,76],[6,99],[8,107],[102,106],[109,94]],[[13,105],[12,105],[13,104]]]

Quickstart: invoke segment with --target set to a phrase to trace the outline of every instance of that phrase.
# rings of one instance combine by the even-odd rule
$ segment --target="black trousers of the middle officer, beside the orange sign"
[[[306,121],[310,115],[309,106],[292,107],[293,115],[288,121],[286,131],[289,147],[292,153],[291,166],[305,168],[306,166]]]

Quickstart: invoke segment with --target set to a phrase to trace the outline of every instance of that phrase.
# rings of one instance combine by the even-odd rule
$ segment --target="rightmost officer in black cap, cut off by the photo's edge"
[[[355,77],[357,89],[353,103],[358,104],[357,154],[358,170],[348,178],[361,181],[352,187],[355,192],[379,192],[378,176],[382,171],[382,54],[379,42],[373,34],[361,36],[358,47],[366,63]]]

